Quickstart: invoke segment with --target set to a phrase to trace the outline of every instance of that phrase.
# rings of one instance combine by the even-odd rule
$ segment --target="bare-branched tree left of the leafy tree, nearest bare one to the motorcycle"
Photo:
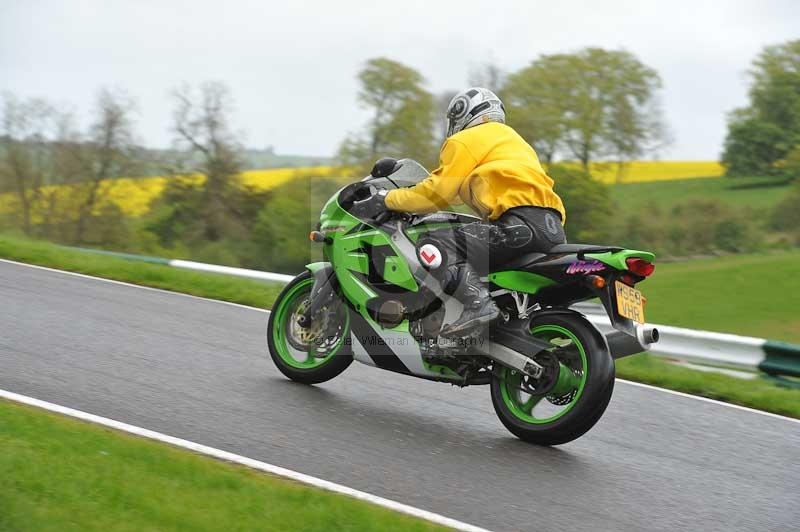
[[[196,213],[201,233],[198,236],[217,241],[240,214],[233,197],[238,191],[235,178],[242,169],[243,149],[229,124],[232,97],[220,82],[203,83],[198,93],[183,86],[172,95],[175,146],[186,157],[173,172],[205,176]],[[185,183],[176,180],[174,185],[180,188]]]

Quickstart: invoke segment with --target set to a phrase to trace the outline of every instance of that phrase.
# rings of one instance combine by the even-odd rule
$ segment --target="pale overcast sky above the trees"
[[[542,53],[624,48],[663,79],[674,143],[661,157],[716,159],[750,61],[797,38],[795,0],[0,0],[0,91],[86,113],[99,87],[122,87],[142,141],[166,146],[169,89],[222,80],[248,145],[330,155],[363,124],[355,74],[371,57],[406,63],[441,92],[485,61],[512,71]]]

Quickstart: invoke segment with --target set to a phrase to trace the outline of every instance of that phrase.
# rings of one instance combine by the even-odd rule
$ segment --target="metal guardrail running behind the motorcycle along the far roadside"
[[[261,281],[288,283],[294,276],[283,273],[262,272],[245,268],[218,266],[177,259],[163,259],[129,253],[117,253],[88,248],[70,248],[86,253],[95,253],[137,260],[155,264],[164,264],[174,268],[204,271],[245,277]],[[613,330],[611,322],[602,305],[595,303],[578,303],[575,310],[586,315],[590,322],[603,333]],[[784,342],[776,342],[751,336],[739,336],[711,331],[684,329],[671,325],[657,325],[660,339],[650,350],[655,355],[686,361],[689,364],[701,364],[707,367],[733,369],[735,371],[762,372],[767,375],[782,377],[800,377],[800,346]],[[735,374],[735,373],[734,373]],[[795,383],[794,381],[788,381]]]

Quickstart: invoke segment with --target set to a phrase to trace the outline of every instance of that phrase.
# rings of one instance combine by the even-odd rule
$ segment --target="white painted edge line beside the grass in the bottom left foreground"
[[[429,512],[427,510],[422,510],[420,508],[415,508],[413,506],[392,501],[390,499],[384,499],[383,497],[378,497],[377,495],[372,495],[371,493],[366,493],[364,491],[348,488],[347,486],[336,484],[335,482],[330,482],[327,480],[323,480],[321,478],[312,477],[310,475],[299,473],[291,469],[286,469],[284,467],[268,464],[266,462],[261,462],[259,460],[247,458],[245,456],[230,453],[228,451],[223,451],[221,449],[215,449],[214,447],[208,447],[206,445],[195,443],[189,440],[183,440],[181,438],[176,438],[174,436],[168,436],[166,434],[155,432],[142,427],[137,427],[135,425],[129,425],[127,423],[122,423],[121,421],[115,421],[113,419],[96,416],[94,414],[90,414],[88,412],[82,412],[80,410],[75,410],[73,408],[69,408],[66,406],[61,406],[54,403],[48,403],[47,401],[41,401],[33,397],[28,397],[27,395],[20,395],[6,390],[0,390],[0,398],[8,399],[11,401],[15,401],[30,406],[35,406],[38,408],[43,408],[45,410],[49,410],[50,412],[56,412],[58,414],[63,414],[66,416],[74,417],[76,419],[81,419],[83,421],[89,421],[91,423],[103,425],[105,427],[110,427],[116,430],[121,430],[123,432],[128,432],[130,434],[135,434],[136,436],[148,438],[150,440],[160,441],[163,443],[167,443],[169,445],[174,445],[176,447],[182,447],[184,449],[188,449],[196,453],[218,458],[220,460],[225,460],[227,462],[233,462],[236,464],[247,466],[253,469],[257,469],[259,471],[264,471],[266,473],[271,473],[273,475],[288,478],[296,482],[308,484],[309,486],[314,486],[316,488],[332,491],[334,493],[339,493],[341,495],[346,495],[354,499],[366,501],[378,506],[382,506],[384,508],[388,508],[390,510],[394,510],[396,512],[411,515],[413,517],[424,519],[432,523],[454,528],[456,530],[464,530],[466,532],[489,532],[485,528],[480,528],[467,523],[462,523],[461,521],[457,521],[455,519],[451,519],[449,517],[445,517],[437,513]]]

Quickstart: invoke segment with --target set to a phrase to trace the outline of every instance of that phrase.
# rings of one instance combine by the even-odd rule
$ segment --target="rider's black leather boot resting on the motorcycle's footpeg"
[[[464,310],[456,321],[442,329],[441,335],[445,338],[465,338],[500,315],[500,309],[478,273],[469,265],[462,265],[460,273],[453,297],[461,302]]]

